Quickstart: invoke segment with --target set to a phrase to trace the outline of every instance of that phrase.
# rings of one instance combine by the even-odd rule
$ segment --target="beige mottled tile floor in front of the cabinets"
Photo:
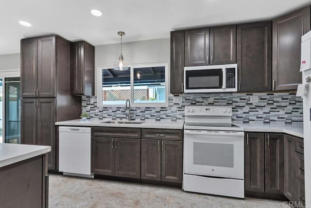
[[[235,199],[117,181],[50,175],[50,208],[275,208],[283,202]],[[285,207],[288,207],[285,204]]]

